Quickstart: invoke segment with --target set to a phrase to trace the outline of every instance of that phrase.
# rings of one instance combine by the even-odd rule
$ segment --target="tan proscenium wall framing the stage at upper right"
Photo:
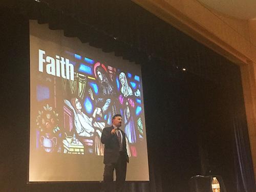
[[[256,20],[228,17],[196,0],[133,1],[240,66],[256,175]]]

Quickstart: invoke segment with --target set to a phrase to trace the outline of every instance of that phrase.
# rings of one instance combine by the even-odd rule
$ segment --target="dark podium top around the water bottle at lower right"
[[[227,192],[222,177],[218,175],[197,175],[191,177],[189,179],[190,192],[213,192],[211,189],[211,182],[214,177],[216,177],[220,183],[221,192]]]

